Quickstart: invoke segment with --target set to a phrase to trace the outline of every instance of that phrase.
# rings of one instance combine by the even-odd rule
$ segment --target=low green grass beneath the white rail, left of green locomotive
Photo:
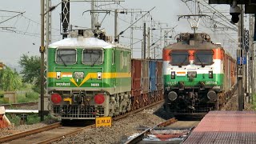
[[[6,117],[10,120],[10,123],[14,123],[14,126],[20,126],[21,125],[21,115],[16,115],[16,114],[6,114]],[[44,122],[50,121],[53,118],[50,117],[50,115],[46,115],[44,118]],[[38,117],[38,114],[30,114],[26,115],[26,125],[33,125],[35,123],[40,122],[40,117]]]

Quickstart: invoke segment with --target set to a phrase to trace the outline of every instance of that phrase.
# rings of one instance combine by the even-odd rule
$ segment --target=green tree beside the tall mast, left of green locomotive
[[[22,67],[21,74],[23,74],[22,81],[32,83],[33,90],[40,93],[40,62],[38,56],[28,56],[22,54],[18,63]]]

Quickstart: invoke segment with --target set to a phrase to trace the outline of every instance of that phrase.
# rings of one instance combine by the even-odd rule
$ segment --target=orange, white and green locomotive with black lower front
[[[236,88],[236,62],[208,34],[179,34],[163,49],[166,111],[173,114],[219,110]]]

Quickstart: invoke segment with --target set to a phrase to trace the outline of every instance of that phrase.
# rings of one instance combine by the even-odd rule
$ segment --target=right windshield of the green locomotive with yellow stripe
[[[103,50],[88,50],[85,49],[82,52],[82,63],[94,65],[94,64],[102,64],[103,62]]]

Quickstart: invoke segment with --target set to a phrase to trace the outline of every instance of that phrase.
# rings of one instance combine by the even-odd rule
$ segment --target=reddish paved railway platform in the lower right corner
[[[182,143],[256,143],[256,112],[210,111]]]

